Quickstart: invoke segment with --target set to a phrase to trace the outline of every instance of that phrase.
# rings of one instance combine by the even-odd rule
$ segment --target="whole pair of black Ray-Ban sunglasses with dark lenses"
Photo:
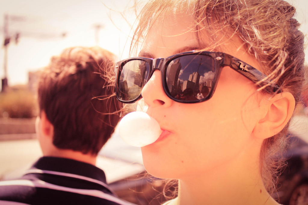
[[[167,58],[132,57],[115,64],[115,94],[122,103],[134,103],[154,71],[160,70],[166,95],[180,103],[209,100],[225,66],[241,73],[269,93],[280,87],[247,63],[226,53],[189,51]]]

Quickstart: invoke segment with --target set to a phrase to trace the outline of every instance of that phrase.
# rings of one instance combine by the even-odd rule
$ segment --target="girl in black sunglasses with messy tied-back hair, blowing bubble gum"
[[[144,6],[138,57],[115,66],[117,97],[163,131],[141,150],[151,175],[178,179],[166,204],[277,204],[276,156],[306,72],[294,13],[280,0]]]

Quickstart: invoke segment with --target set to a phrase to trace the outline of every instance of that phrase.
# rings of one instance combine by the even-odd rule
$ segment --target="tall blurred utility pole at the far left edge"
[[[7,46],[10,43],[10,37],[9,37],[9,16],[7,14],[4,14],[4,27],[3,27],[3,34],[4,34],[4,60],[3,60],[3,69],[4,69],[4,78],[2,78],[2,92],[5,92],[8,88],[8,82],[7,82]]]

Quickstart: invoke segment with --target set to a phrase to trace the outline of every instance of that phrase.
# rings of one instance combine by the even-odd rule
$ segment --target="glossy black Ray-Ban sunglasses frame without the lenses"
[[[216,61],[217,72],[216,72],[216,75],[213,79],[212,88],[211,88],[208,96],[203,98],[203,99],[195,100],[195,101],[180,100],[180,99],[176,99],[176,98],[172,97],[172,95],[168,91],[167,81],[166,81],[166,69],[167,69],[169,63],[172,60],[174,60],[175,58],[178,58],[178,57],[186,56],[186,55],[204,55],[204,56],[209,56]],[[152,58],[145,58],[145,57],[131,57],[131,58],[127,58],[127,59],[124,59],[122,61],[117,62],[115,64],[115,69],[114,69],[114,72],[115,72],[115,94],[116,94],[117,99],[120,102],[126,103],[126,104],[134,103],[137,100],[139,100],[140,97],[141,97],[141,93],[138,97],[136,97],[135,99],[133,99],[131,101],[123,101],[119,97],[118,80],[119,80],[119,76],[121,74],[121,70],[122,70],[123,66],[128,61],[132,61],[132,60],[141,60],[141,61],[145,61],[149,64],[149,75],[148,75],[145,83],[147,83],[148,80],[152,77],[155,70],[160,70],[161,81],[163,83],[164,92],[166,93],[166,95],[170,99],[172,99],[176,102],[180,102],[180,103],[197,103],[197,102],[203,102],[203,101],[209,100],[215,92],[215,89],[216,89],[216,86],[218,84],[218,80],[219,80],[219,77],[220,77],[221,70],[225,66],[229,66],[230,68],[236,70],[238,73],[241,73],[243,76],[245,76],[249,80],[253,81],[256,85],[258,85],[260,87],[265,86],[264,90],[266,90],[269,93],[275,93],[275,92],[279,93],[279,92],[281,92],[281,88],[277,84],[273,83],[265,74],[263,74],[259,70],[255,69],[251,65],[245,63],[244,61],[239,60],[236,57],[233,57],[229,54],[221,53],[221,52],[189,51],[189,52],[184,52],[184,53],[178,53],[178,54],[175,54],[173,56],[169,56],[167,58],[152,59]],[[154,67],[153,67],[153,65],[154,65]]]

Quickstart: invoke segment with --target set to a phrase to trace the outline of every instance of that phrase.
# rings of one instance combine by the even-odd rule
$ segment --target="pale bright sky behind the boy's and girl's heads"
[[[128,0],[0,0],[0,78],[4,77],[5,14],[9,16],[9,34],[14,36],[20,33],[18,43],[16,44],[13,39],[8,46],[7,69],[11,86],[26,84],[29,71],[41,69],[48,64],[51,56],[59,55],[64,48],[71,46],[99,45],[115,53],[119,59],[128,57],[129,46],[126,42],[130,26],[126,20],[132,23],[135,16],[126,16],[125,20],[119,13],[127,8],[128,2]],[[302,24],[301,30],[307,35],[308,1],[289,0],[289,2],[296,7],[297,19]],[[101,27],[98,33],[95,29],[97,25]],[[96,34],[98,38],[95,37]],[[307,49],[306,56],[308,56]]]

